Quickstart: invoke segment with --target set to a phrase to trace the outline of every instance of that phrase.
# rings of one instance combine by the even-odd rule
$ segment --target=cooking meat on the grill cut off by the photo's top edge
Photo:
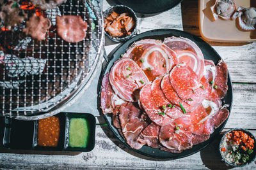
[[[31,3],[40,7],[42,10],[52,9],[56,6],[65,3],[66,0],[31,0]]]

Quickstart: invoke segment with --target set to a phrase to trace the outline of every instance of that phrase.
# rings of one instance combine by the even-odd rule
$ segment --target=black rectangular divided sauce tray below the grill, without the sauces
[[[90,152],[95,146],[95,117],[90,113],[58,113],[54,117],[60,120],[60,136],[58,145],[38,146],[38,120],[22,121],[12,118],[0,117],[0,148],[18,150],[44,150],[63,152]],[[88,120],[90,128],[88,145],[85,148],[72,148],[68,144],[69,123],[71,118],[84,118]]]

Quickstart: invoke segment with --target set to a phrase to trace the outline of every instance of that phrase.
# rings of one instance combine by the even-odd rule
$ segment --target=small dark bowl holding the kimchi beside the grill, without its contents
[[[135,25],[134,27],[132,28],[131,30],[131,34],[128,35],[128,36],[125,36],[125,37],[114,37],[114,36],[111,36],[109,35],[108,32],[104,31],[105,32],[105,35],[117,42],[117,43],[120,43],[120,42],[123,42],[123,41],[127,41],[128,39],[132,38],[132,36],[134,36],[135,32],[136,32],[136,28],[137,28],[137,25],[138,25],[138,19],[137,19],[137,16],[136,14],[134,13],[134,11],[129,8],[128,6],[125,6],[125,5],[115,5],[115,6],[111,6],[108,8],[108,10],[104,11],[103,13],[103,18],[104,20],[113,12],[115,11],[116,13],[128,13],[130,17],[132,17],[132,19],[135,21]]]

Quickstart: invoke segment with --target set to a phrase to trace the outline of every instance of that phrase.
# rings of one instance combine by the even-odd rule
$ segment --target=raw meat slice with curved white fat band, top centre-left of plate
[[[178,62],[175,52],[156,39],[137,41],[124,53],[124,57],[134,60],[150,81],[168,73]]]

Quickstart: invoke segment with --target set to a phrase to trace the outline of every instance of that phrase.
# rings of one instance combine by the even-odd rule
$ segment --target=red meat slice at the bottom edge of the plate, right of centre
[[[171,150],[186,150],[192,147],[191,121],[188,117],[173,120],[164,125],[159,132],[160,143]]]

